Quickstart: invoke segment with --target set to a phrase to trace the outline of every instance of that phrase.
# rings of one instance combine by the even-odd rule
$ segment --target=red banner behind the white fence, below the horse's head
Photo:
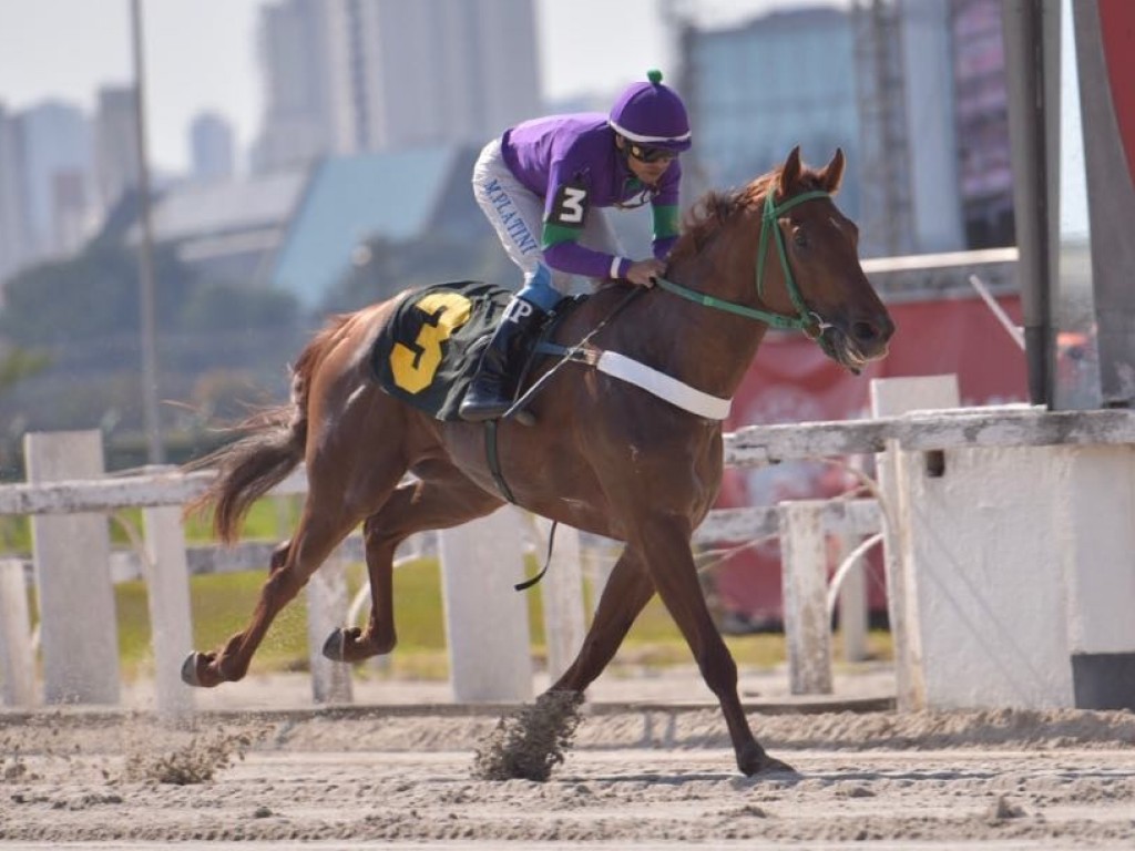
[[[1020,321],[1020,300],[999,300]],[[746,376],[726,431],[756,423],[850,420],[869,415],[872,378],[956,373],[962,405],[1026,402],[1025,355],[977,298],[889,305],[898,330],[885,360],[851,376],[799,334],[770,334]],[[869,465],[872,460],[866,460]],[[865,471],[868,474],[873,470]],[[718,507],[831,497],[859,480],[847,466],[793,462],[726,470]],[[832,568],[838,554],[832,553]],[[885,612],[882,558],[871,563],[871,606]],[[781,623],[780,548],[775,541],[729,557],[714,572],[718,605],[738,629]]]

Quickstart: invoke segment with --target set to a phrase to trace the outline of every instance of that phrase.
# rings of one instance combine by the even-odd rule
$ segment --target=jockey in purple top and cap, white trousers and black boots
[[[512,405],[532,337],[573,275],[649,287],[678,239],[678,154],[690,146],[686,107],[650,70],[648,82],[602,112],[524,121],[489,142],[473,168],[473,193],[524,284],[504,311],[461,404],[463,420]],[[602,208],[650,204],[653,256],[631,260]]]

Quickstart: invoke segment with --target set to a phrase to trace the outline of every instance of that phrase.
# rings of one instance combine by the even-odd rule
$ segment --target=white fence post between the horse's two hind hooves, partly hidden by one
[[[331,632],[347,624],[346,559],[336,549],[308,580],[308,647],[311,660],[311,697],[317,703],[350,703],[351,666],[323,656]]]

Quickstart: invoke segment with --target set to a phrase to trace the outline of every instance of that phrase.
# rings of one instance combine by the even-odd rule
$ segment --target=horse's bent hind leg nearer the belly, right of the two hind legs
[[[365,629],[335,630],[323,655],[361,662],[388,654],[397,643],[394,627],[394,553],[415,532],[448,529],[496,511],[504,500],[473,485],[456,467],[435,462],[414,469],[421,480],[400,485],[363,525],[371,609]]]

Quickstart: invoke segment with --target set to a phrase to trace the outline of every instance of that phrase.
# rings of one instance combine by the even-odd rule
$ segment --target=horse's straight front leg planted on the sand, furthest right
[[[770,757],[749,728],[737,692],[737,663],[709,615],[698,582],[690,530],[672,517],[651,517],[638,526],[633,544],[642,549],[658,596],[690,646],[706,685],[721,703],[738,768],[750,776],[758,772],[791,770]]]

